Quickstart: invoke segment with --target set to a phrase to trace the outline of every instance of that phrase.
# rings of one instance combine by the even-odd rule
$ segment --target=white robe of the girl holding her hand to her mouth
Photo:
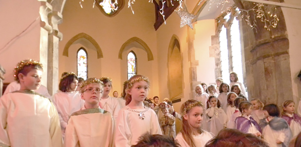
[[[227,126],[228,117],[223,109],[216,107],[208,108],[205,112],[208,117],[209,132],[217,135],[220,130]]]

